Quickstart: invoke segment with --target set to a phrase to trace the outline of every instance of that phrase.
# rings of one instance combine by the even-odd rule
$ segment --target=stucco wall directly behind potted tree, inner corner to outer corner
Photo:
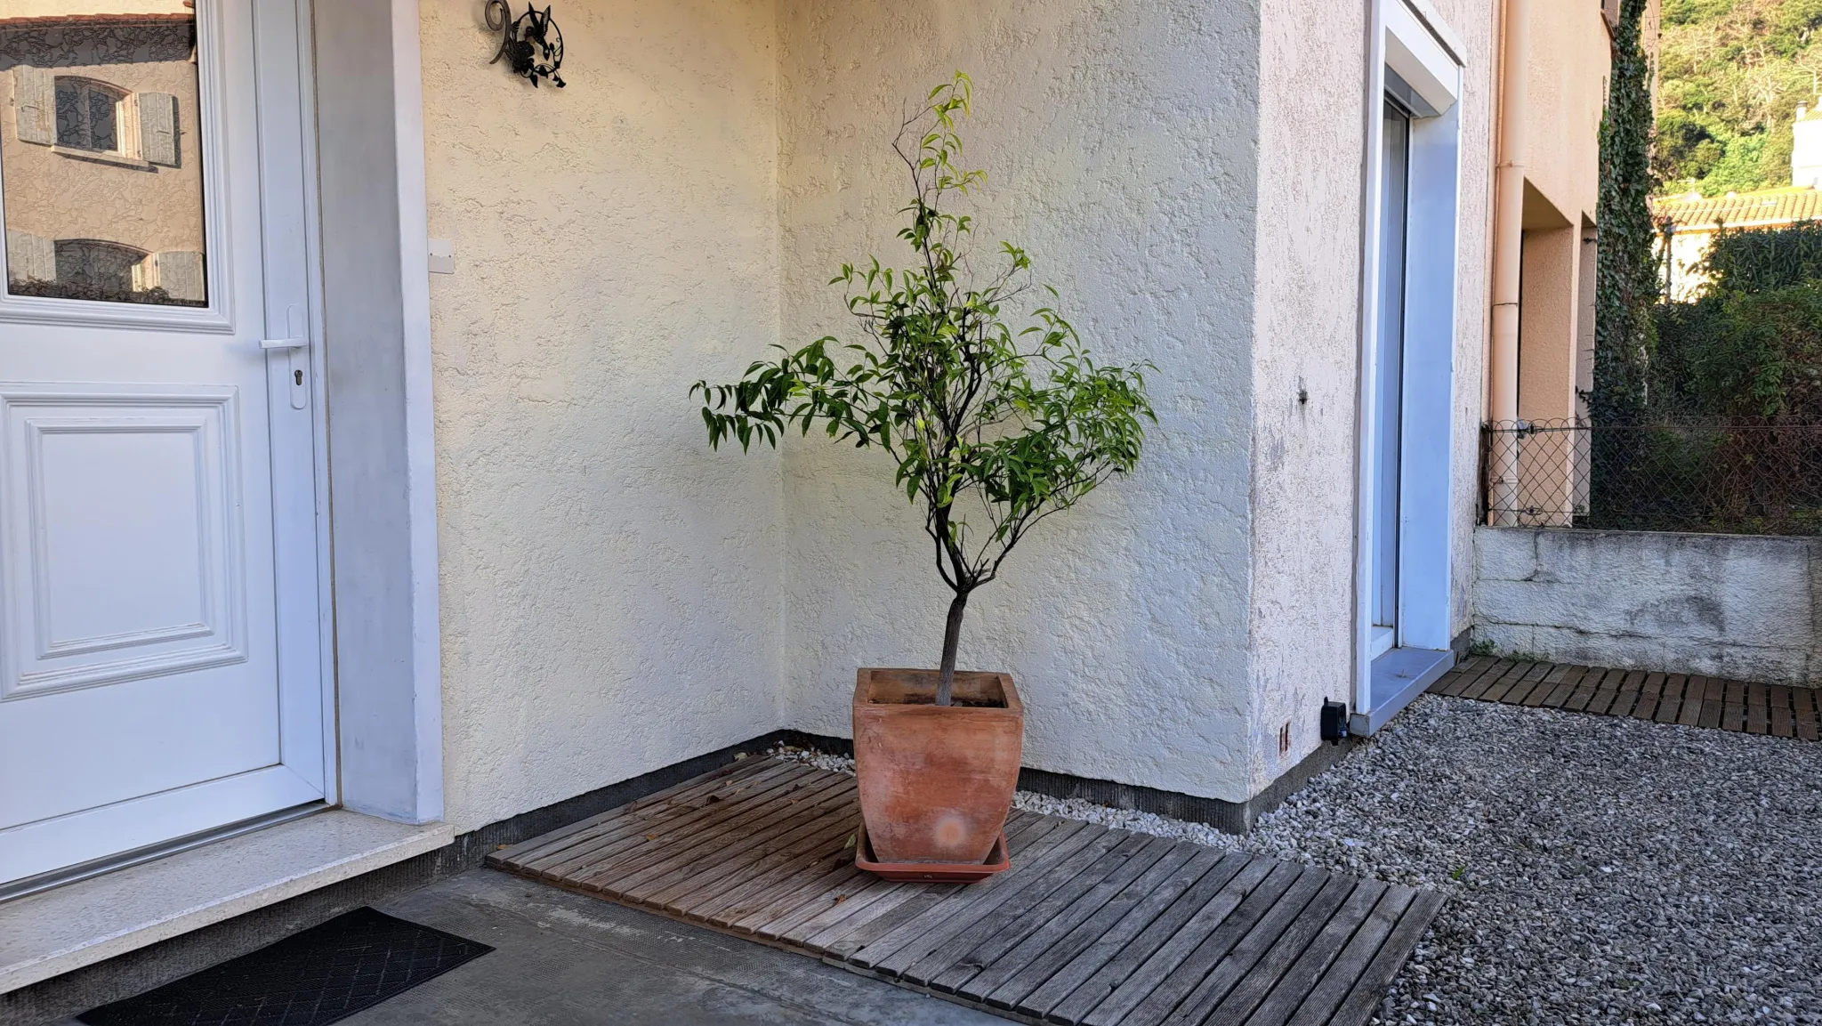
[[[891,129],[962,67],[982,266],[1028,246],[1100,359],[1157,364],[1139,472],[1013,552],[962,662],[1015,674],[1029,765],[1246,798],[1255,0],[785,0],[780,36],[787,344],[853,333],[842,261],[906,259]],[[855,667],[935,665],[947,592],[884,459],[798,439],[785,481],[789,707],[847,734]]]

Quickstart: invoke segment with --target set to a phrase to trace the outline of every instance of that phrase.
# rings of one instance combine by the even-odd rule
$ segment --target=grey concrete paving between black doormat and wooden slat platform
[[[496,951],[348,1026],[1004,1024],[802,955],[492,869],[375,908]]]

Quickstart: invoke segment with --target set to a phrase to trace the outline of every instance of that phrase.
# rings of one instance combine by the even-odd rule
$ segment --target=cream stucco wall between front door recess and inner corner
[[[687,399],[776,337],[769,2],[559,7],[567,89],[423,5],[448,818],[782,725],[773,454]]]

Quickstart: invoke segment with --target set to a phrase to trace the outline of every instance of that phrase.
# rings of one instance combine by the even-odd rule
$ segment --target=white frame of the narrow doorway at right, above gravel
[[[1410,0],[1372,5],[1366,93],[1366,166],[1361,275],[1359,352],[1359,467],[1354,549],[1354,711],[1356,729],[1370,733],[1410,694],[1388,702],[1374,687],[1372,656],[1372,481],[1377,454],[1374,397],[1379,346],[1383,131],[1381,111],[1394,71],[1412,91],[1410,202],[1405,246],[1405,386],[1399,463],[1397,636],[1381,656],[1388,665],[1421,665],[1432,672],[1450,643],[1450,474],[1454,448],[1454,337],[1456,337],[1456,228],[1461,188],[1461,60],[1452,33]],[[1399,654],[1399,651],[1407,651]],[[1447,667],[1445,667],[1447,669]],[[1434,671],[1439,672],[1439,671]],[[1410,678],[1403,691],[1418,693],[1427,680]]]

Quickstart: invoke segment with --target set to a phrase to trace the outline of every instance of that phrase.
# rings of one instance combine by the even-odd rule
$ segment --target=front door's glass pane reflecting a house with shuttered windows
[[[0,0],[11,295],[206,306],[186,0]]]

